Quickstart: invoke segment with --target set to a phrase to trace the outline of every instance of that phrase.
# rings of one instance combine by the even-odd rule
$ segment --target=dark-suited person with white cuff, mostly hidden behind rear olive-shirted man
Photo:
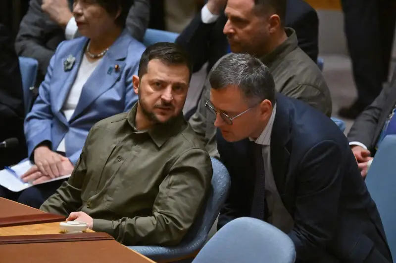
[[[223,33],[227,22],[224,13],[227,1],[207,0],[206,2],[176,40],[190,53],[194,72],[197,72],[207,61],[209,72],[213,65],[230,51],[227,35]],[[319,19],[315,9],[303,0],[287,0],[285,27],[296,31],[298,47],[316,63],[319,53]]]

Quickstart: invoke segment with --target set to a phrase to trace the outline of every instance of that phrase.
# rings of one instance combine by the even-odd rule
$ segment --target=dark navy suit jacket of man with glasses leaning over
[[[323,113],[277,94],[271,164],[277,189],[295,226],[288,233],[297,262],[391,262],[374,201],[347,138]],[[250,215],[254,157],[248,139],[228,143],[217,134],[231,190],[219,227]]]

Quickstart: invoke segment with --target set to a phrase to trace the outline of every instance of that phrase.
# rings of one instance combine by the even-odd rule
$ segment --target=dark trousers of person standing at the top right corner
[[[358,102],[371,104],[388,80],[395,33],[395,0],[341,0]]]

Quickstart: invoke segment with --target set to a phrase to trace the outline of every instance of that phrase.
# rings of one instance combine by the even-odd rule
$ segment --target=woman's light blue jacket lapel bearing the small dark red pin
[[[125,70],[125,58],[128,54],[128,45],[131,38],[124,30],[119,38],[110,46],[98,67],[88,78],[81,91],[76,110],[70,121],[78,117],[101,94],[113,87]],[[116,69],[118,65],[118,69]]]

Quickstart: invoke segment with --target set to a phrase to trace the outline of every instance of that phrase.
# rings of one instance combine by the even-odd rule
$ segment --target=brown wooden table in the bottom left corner
[[[20,215],[24,211],[31,214],[31,209],[34,209],[15,202],[12,203],[13,209],[9,210],[9,204],[10,203],[7,202],[7,216],[8,214],[9,216]],[[33,213],[35,212],[44,213],[40,210],[33,211]],[[87,232],[95,231],[88,229]],[[0,236],[45,234],[67,235],[64,233],[60,233],[59,222],[0,227]],[[75,255],[73,254],[73,252],[70,251],[78,251],[80,248],[84,248],[84,250],[92,252],[97,251],[98,253],[77,253],[78,255]],[[29,262],[32,263],[70,263],[72,262],[70,261],[70,254],[72,254],[72,257],[74,257],[73,262],[155,263],[147,257],[139,254],[138,252],[121,245],[115,240],[0,245],[1,263],[26,262],[25,254],[29,254],[31,256],[31,260]]]

